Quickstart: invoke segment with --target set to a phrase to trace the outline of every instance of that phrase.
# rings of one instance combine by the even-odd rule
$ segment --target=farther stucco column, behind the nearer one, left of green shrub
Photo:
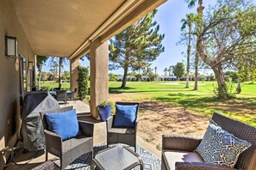
[[[79,58],[73,58],[70,60],[70,87],[71,91],[74,91],[75,88],[78,89],[78,66]]]

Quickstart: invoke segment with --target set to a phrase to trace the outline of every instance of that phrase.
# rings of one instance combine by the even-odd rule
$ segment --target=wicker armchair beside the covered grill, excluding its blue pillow
[[[72,109],[73,106],[66,106],[47,112],[66,112]],[[44,114],[47,112],[41,112],[41,118],[44,125],[44,134],[46,137],[46,160],[48,159],[48,153],[56,155],[60,159],[60,169],[64,169],[80,155],[93,151],[94,124],[78,120],[79,129],[83,133],[83,136],[62,141],[62,138],[59,135],[53,133],[52,131],[48,131],[47,121],[44,118]]]

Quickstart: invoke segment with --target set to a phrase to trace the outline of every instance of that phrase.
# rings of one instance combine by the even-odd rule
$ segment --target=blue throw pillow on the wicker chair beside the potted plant
[[[138,105],[116,105],[114,127],[134,127]]]

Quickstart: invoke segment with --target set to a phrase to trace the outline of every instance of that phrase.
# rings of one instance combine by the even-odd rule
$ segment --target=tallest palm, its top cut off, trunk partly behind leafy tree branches
[[[198,2],[198,7],[197,7],[197,39],[198,39],[198,34],[201,32],[202,29],[202,22],[203,22],[203,0],[185,0],[188,3],[189,8],[193,8],[196,5],[196,2]],[[197,85],[197,78],[198,78],[198,63],[199,63],[199,56],[198,53],[196,52],[196,57],[195,57],[195,86],[194,90],[198,89]]]

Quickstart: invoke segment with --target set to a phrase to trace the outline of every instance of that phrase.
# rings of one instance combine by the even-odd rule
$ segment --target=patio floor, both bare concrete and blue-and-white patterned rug
[[[62,105],[64,106],[64,105]],[[95,146],[95,152],[100,149],[104,149],[105,143],[107,141],[106,137],[106,124],[105,122],[101,122],[98,119],[92,118],[90,115],[90,106],[84,104],[83,101],[78,100],[76,103],[69,103],[67,106],[74,106],[78,111],[78,119],[84,120],[86,122],[91,122],[95,124],[94,133],[97,134],[93,138],[93,143]],[[145,142],[141,137],[137,139],[138,143],[138,153],[142,156],[145,160],[144,164],[146,165],[147,169],[159,169],[160,168],[160,160],[161,153],[159,150],[154,149],[153,144]],[[19,143],[18,143],[19,145]],[[32,169],[34,167],[38,167],[42,163],[46,161],[45,152],[44,150],[40,151],[33,151],[28,153],[23,153],[24,149],[16,150],[15,161],[16,165],[13,161],[10,161],[6,170],[27,170]],[[90,169],[91,164],[91,155],[82,155],[76,161],[72,162],[72,164],[66,169]],[[54,161],[56,165],[59,165],[59,159],[54,155],[49,155],[49,159]],[[25,164],[27,163],[28,164]],[[23,165],[24,164],[24,165]]]

